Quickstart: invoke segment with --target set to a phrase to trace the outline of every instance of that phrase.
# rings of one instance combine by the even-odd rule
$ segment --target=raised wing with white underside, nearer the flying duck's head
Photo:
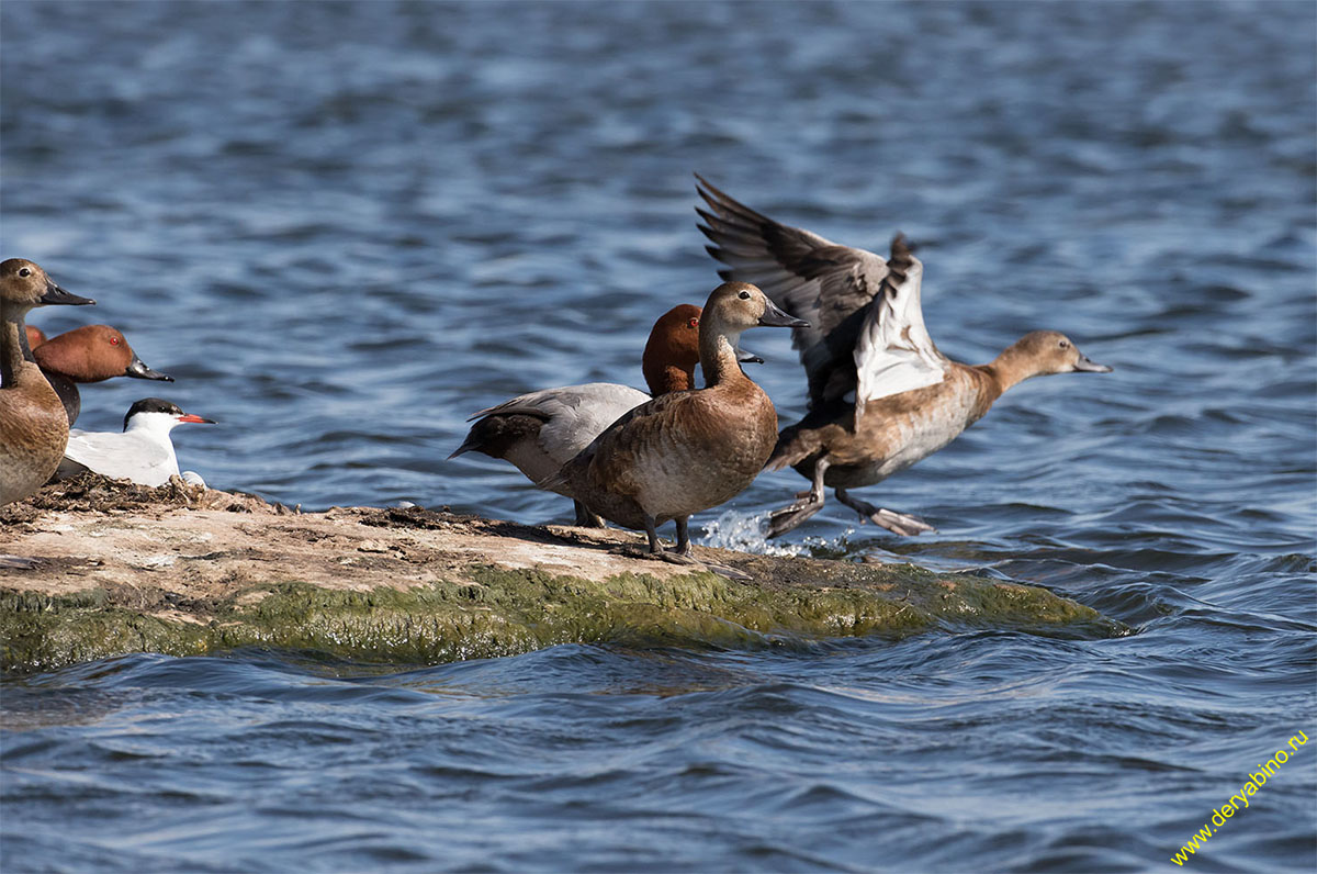
[[[855,344],[855,419],[869,401],[942,382],[951,361],[923,324],[919,286],[923,265],[900,233],[892,240],[888,274],[865,312]]]

